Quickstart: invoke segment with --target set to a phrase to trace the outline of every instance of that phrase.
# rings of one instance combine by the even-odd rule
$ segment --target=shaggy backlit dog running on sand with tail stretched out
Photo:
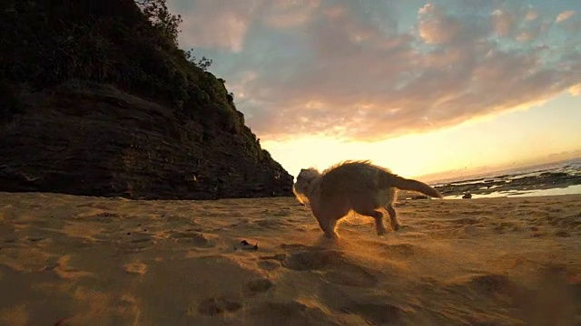
[[[398,189],[420,192],[429,197],[441,198],[438,190],[418,180],[399,177],[389,168],[373,165],[369,160],[344,161],[320,173],[316,168],[302,168],[292,191],[304,206],[310,206],[312,215],[328,238],[337,238],[337,222],[350,211],[375,219],[378,235],[387,230],[383,225],[385,208],[390,225],[399,230],[393,202]]]

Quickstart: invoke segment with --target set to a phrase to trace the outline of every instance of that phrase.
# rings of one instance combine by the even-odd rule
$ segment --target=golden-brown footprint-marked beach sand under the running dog
[[[396,209],[330,241],[292,197],[0,193],[0,324],[581,324],[581,195]]]

